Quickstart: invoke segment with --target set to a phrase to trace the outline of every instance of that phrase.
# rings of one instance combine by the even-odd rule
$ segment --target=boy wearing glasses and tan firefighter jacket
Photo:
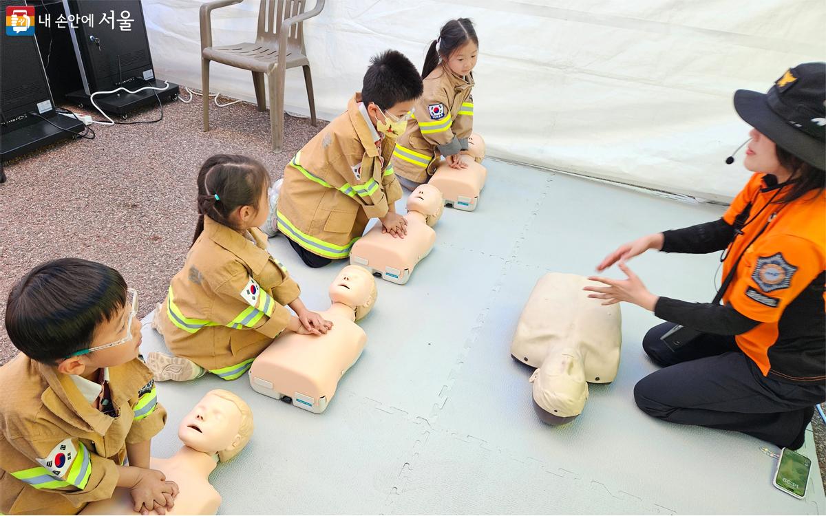
[[[119,272],[79,258],[12,287],[6,330],[21,353],[0,367],[0,513],[77,514],[115,487],[142,514],[173,507],[178,485],[149,469],[166,410],[138,357],[136,303]]]

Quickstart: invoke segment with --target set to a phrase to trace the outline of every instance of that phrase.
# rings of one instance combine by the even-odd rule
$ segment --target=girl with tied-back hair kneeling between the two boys
[[[319,335],[333,326],[306,309],[296,282],[267,251],[259,230],[268,217],[267,169],[246,156],[216,154],[197,184],[192,246],[155,311],[153,327],[175,355],[147,356],[157,381],[206,372],[235,380],[285,329]]]

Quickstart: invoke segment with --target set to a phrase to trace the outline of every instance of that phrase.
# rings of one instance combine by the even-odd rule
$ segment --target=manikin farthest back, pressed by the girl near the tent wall
[[[443,161],[436,168],[428,184],[439,188],[444,195],[444,204],[457,210],[473,211],[479,202],[479,193],[485,187],[487,168],[481,164],[485,158],[485,140],[473,133],[468,138],[468,151],[459,154],[459,159],[467,168],[451,168]]]

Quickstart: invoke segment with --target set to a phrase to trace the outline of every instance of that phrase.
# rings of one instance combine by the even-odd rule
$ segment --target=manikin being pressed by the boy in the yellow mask
[[[430,253],[436,240],[433,227],[442,216],[444,200],[439,188],[421,184],[407,198],[407,234],[403,239],[382,233],[377,224],[354,244],[350,263],[367,267],[374,276],[404,285],[413,267]]]

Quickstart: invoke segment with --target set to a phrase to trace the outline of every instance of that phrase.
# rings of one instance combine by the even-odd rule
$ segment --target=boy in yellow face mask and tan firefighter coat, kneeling
[[[421,92],[410,59],[395,50],[373,57],[347,111],[287,164],[273,225],[309,267],[347,258],[372,218],[404,238],[406,220],[394,207],[401,187],[390,159]]]

